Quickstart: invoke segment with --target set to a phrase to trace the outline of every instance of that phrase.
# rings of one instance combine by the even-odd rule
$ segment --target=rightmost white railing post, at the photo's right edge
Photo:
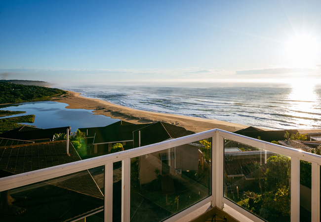
[[[312,162],[311,221],[320,221],[320,166]]]

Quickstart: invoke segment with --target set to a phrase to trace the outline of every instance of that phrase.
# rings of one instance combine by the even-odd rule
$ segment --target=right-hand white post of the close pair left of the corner
[[[130,158],[121,161],[121,222],[130,219]]]

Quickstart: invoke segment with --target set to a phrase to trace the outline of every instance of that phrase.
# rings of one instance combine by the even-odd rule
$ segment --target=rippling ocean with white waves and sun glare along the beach
[[[267,83],[110,84],[64,88],[136,110],[267,129],[321,128],[321,86]]]

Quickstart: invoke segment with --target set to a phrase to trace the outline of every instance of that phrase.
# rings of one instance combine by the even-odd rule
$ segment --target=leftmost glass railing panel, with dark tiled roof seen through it
[[[104,181],[101,166],[2,191],[1,221],[103,222]]]

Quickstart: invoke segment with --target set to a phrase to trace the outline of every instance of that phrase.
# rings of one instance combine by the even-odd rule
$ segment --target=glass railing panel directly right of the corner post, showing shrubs
[[[224,141],[224,197],[267,221],[290,221],[287,156]]]

